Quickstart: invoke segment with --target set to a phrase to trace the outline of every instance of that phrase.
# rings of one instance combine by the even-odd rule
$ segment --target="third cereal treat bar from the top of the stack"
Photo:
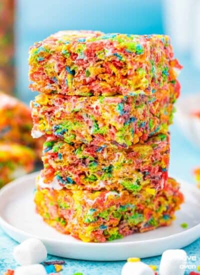
[[[158,134],[128,149],[70,145],[48,138],[42,160],[39,182],[45,187],[155,193],[168,176],[169,135]]]

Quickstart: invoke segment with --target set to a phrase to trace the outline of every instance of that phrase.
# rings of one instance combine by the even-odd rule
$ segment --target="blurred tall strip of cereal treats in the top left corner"
[[[0,0],[0,89],[13,93],[15,0]]]

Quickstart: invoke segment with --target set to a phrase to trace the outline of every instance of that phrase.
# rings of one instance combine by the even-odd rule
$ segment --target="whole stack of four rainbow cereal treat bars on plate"
[[[180,68],[165,35],[60,31],[30,48],[45,222],[94,242],[171,223],[183,202],[167,173]]]

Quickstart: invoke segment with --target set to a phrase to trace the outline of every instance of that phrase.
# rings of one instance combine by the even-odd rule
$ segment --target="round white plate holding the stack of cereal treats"
[[[169,248],[181,248],[200,237],[200,191],[182,183],[185,203],[171,226],[136,233],[105,243],[85,243],[56,232],[34,211],[33,190],[36,173],[14,180],[0,190],[0,225],[13,239],[41,239],[48,253],[86,260],[124,260],[130,256],[149,257]],[[183,229],[180,224],[188,223]]]

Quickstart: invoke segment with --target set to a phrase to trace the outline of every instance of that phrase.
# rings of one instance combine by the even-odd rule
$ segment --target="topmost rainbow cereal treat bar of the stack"
[[[65,95],[152,94],[179,85],[166,35],[59,31],[29,50],[30,88]]]

